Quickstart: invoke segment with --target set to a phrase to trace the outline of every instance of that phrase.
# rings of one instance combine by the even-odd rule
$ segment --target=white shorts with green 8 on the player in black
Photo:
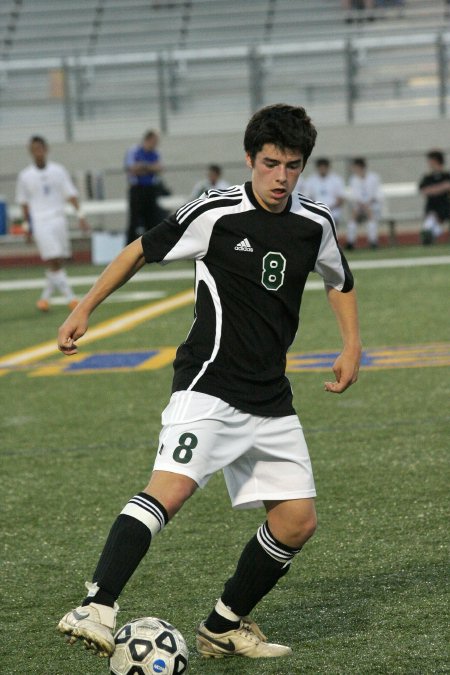
[[[297,415],[259,417],[214,396],[178,391],[162,424],[154,469],[189,476],[200,487],[223,469],[235,507],[316,495]]]

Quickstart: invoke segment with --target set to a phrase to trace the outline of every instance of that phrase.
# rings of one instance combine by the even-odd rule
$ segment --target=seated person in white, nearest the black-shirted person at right
[[[358,225],[365,223],[367,240],[370,248],[378,247],[378,222],[381,217],[383,195],[378,174],[369,171],[363,157],[356,157],[352,162],[353,175],[349,181],[351,218],[347,225],[348,251],[356,245]]]

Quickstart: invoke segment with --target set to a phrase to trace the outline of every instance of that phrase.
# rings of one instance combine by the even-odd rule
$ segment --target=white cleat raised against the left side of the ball
[[[69,636],[70,644],[82,640],[86,649],[92,649],[99,656],[111,656],[115,649],[113,633],[118,609],[117,603],[114,607],[108,607],[91,602],[63,616],[58,630]]]

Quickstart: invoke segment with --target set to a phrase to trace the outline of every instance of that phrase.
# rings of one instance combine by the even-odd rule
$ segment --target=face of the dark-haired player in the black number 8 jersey
[[[302,153],[266,143],[254,160],[247,154],[246,162],[252,169],[252,187],[258,203],[266,211],[283,211],[303,171]]]

